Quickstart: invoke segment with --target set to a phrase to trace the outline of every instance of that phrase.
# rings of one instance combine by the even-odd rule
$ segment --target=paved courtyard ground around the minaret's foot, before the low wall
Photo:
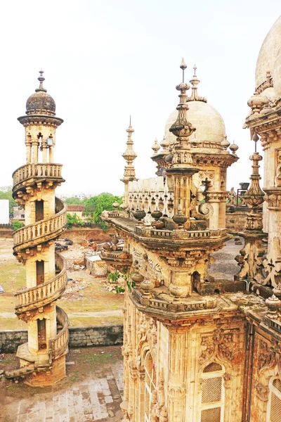
[[[17,366],[15,354],[1,369]],[[82,347],[67,354],[67,377],[32,388],[0,376],[0,422],[120,422],[123,362],[120,347]]]

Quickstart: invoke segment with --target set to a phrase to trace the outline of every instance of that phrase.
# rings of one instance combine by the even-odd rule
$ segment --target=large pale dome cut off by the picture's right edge
[[[278,59],[279,58],[279,59]],[[278,60],[277,60],[278,59]],[[261,50],[259,52],[258,60],[256,61],[256,89],[263,91],[268,87],[275,87],[275,84],[281,83],[280,73],[276,68],[281,64],[281,16],[278,18],[270,29],[266,38],[263,41]],[[271,80],[272,78],[272,80]],[[276,89],[276,87],[275,87]]]

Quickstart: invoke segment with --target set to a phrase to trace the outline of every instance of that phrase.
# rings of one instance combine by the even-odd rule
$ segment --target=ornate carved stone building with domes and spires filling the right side
[[[187,96],[185,68],[183,60],[183,81],[176,87],[180,103],[169,119],[162,150],[157,141],[152,147],[157,179],[129,181],[128,212],[103,215],[125,238],[133,262],[129,274],[134,283],[124,300],[124,421],[277,422],[281,85],[276,69],[280,72],[281,18],[262,47],[259,82],[249,100],[246,124],[254,141],[261,139],[266,178],[261,189],[261,156],[255,151],[244,196],[245,245],[236,258],[241,270],[235,281],[221,281],[221,291],[229,293],[215,290],[208,263],[211,252],[228,239],[226,169],[237,160],[237,148],[230,148],[233,155],[226,151],[221,116],[198,96],[196,75]],[[230,205],[235,200],[230,192]]]

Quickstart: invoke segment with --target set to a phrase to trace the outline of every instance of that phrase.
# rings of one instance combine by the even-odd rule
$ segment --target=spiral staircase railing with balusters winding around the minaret
[[[19,167],[13,173],[13,197],[21,198],[23,196],[26,200],[28,194],[32,193],[32,189],[37,189],[38,186],[40,188],[43,184],[52,186],[53,182],[60,184],[60,181],[64,181],[61,176],[61,168],[62,165],[47,163],[27,164]],[[30,248],[36,248],[42,243],[58,238],[66,228],[66,212],[66,205],[55,197],[55,215],[23,226],[14,232],[14,255],[20,259],[20,255],[30,253]],[[45,307],[60,298],[67,286],[66,269],[65,258],[55,252],[55,271],[58,274],[45,283],[15,293],[15,314],[26,320],[25,313],[28,315],[29,312],[36,312],[40,307]],[[58,359],[68,350],[68,318],[63,309],[58,306],[56,306],[56,318],[58,324],[63,328],[58,328],[58,334],[54,338],[48,339],[48,364],[44,366],[50,366],[54,359]],[[27,364],[15,371],[6,371],[5,376],[17,378],[41,370],[41,366],[37,366],[34,362],[34,364]]]

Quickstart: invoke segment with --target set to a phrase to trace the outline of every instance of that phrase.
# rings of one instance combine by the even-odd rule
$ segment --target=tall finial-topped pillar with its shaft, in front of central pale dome
[[[199,169],[193,167],[190,153],[191,145],[189,136],[196,129],[188,122],[186,116],[189,108],[186,102],[186,91],[190,89],[190,85],[184,82],[184,71],[187,68],[184,60],[182,60],[180,68],[183,70],[183,82],[176,86],[176,89],[181,92],[179,94],[180,103],[176,108],[178,110],[178,117],[169,129],[176,136],[176,142],[174,143],[172,152],[173,159],[171,161],[171,167],[166,170],[166,173],[174,177],[174,215],[183,214],[187,220],[185,227],[188,229],[190,222],[192,176]]]

